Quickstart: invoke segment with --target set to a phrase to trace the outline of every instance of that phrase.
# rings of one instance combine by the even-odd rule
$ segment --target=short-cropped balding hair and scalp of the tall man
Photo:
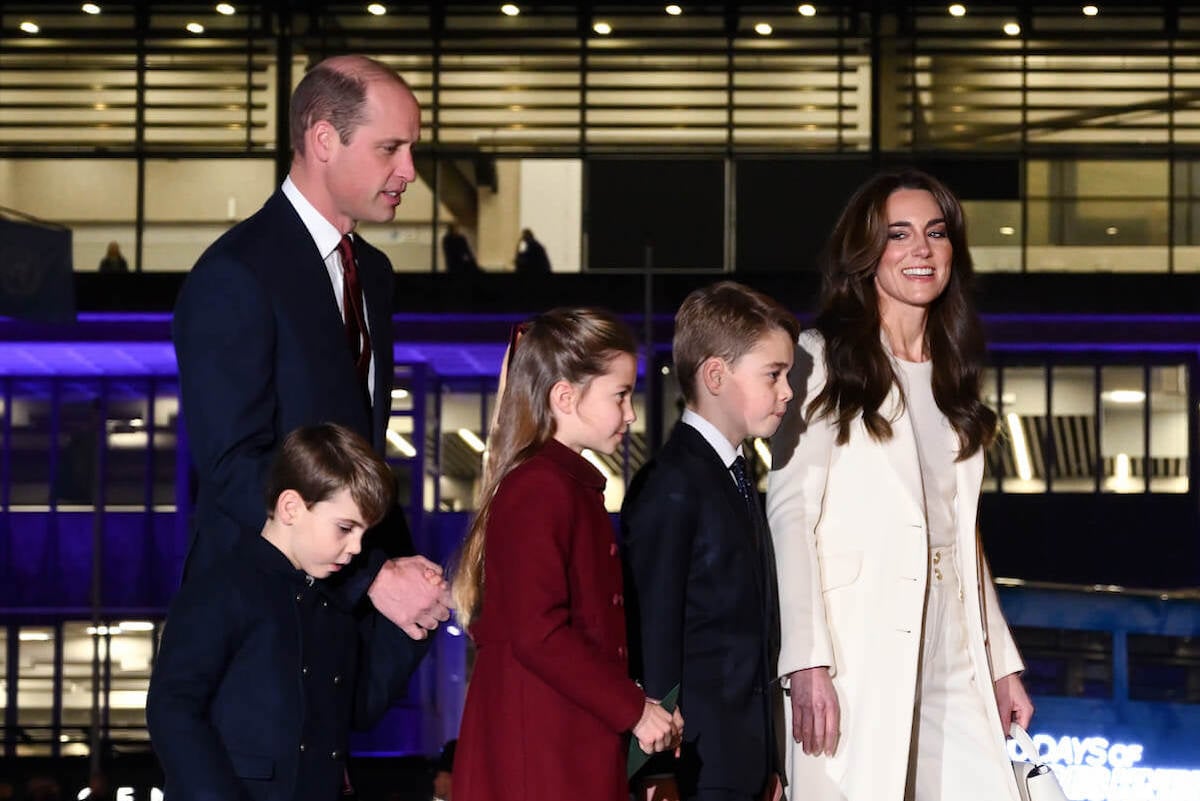
[[[288,128],[293,152],[304,156],[305,132],[320,120],[348,143],[366,119],[367,84],[373,80],[394,82],[412,95],[395,70],[365,55],[335,55],[310,70],[292,95]]]

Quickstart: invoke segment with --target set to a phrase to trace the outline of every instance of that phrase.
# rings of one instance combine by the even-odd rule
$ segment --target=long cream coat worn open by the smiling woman
[[[808,757],[792,740],[785,704],[788,797],[900,801],[905,794],[917,669],[929,579],[929,531],[917,440],[893,387],[883,408],[892,439],[862,420],[835,445],[826,420],[805,424],[824,385],[821,335],[805,331],[791,375],[796,399],[772,439],[767,514],[779,567],[782,642],[778,674],[827,666],[841,706],[833,757]],[[948,436],[955,436],[947,428]],[[956,438],[953,442],[958,447]],[[955,463],[958,570],[976,596],[966,606],[971,662],[985,707],[997,716],[995,758],[1004,760],[992,681],[1021,670],[983,561],[976,511],[983,454]],[[1012,797],[1019,800],[1015,783]]]

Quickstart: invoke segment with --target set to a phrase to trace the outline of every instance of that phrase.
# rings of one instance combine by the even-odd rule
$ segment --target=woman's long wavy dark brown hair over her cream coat
[[[850,199],[829,235],[815,321],[824,337],[827,379],[809,416],[828,415],[838,426],[839,445],[850,441],[859,415],[872,439],[892,438],[892,421],[880,408],[896,374],[880,338],[875,272],[888,243],[888,198],[896,189],[924,189],[934,195],[953,248],[949,282],[929,305],[925,345],[934,362],[934,401],[959,435],[961,460],[991,442],[996,412],[979,399],[984,336],[971,297],[974,269],[962,205],[946,185],[919,170],[881,173],[869,180]]]

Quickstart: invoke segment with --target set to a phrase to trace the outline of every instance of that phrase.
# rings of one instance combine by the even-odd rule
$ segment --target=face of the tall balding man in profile
[[[396,216],[400,195],[416,180],[413,145],[421,133],[421,109],[398,80],[367,82],[365,121],[342,141],[328,122],[319,130],[326,147],[325,194],[318,209],[342,233],[358,222],[385,223]]]

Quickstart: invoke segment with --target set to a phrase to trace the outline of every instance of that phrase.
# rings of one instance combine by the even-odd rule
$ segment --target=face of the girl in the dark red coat
[[[551,390],[554,439],[575,452],[613,453],[637,420],[632,402],[636,381],[637,360],[617,354],[608,369],[587,384],[556,384]]]

